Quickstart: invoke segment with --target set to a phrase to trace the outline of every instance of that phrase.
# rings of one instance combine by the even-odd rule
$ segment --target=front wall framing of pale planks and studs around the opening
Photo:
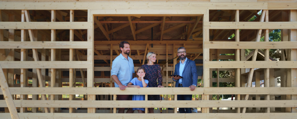
[[[41,49],[41,48],[49,48],[51,49],[51,61],[38,61],[38,55],[37,51],[34,52],[35,56],[34,59],[36,61],[28,62],[24,59],[21,61],[0,61],[0,66],[3,69],[21,69],[21,72],[24,73],[24,69],[33,68],[37,69],[38,77],[39,79],[43,79],[43,75],[40,73],[40,69],[42,68],[48,68],[48,69],[69,69],[70,72],[75,71],[75,69],[87,69],[87,87],[77,89],[75,87],[69,87],[68,89],[60,89],[60,87],[35,87],[35,88],[29,88],[29,87],[9,87],[9,90],[11,91],[11,94],[21,94],[21,95],[27,95],[28,92],[30,94],[41,94],[43,95],[43,98],[45,98],[45,94],[71,94],[75,95],[77,93],[88,95],[88,101],[76,101],[76,100],[69,100],[69,101],[62,101],[62,100],[55,100],[53,101],[53,96],[51,96],[51,100],[40,100],[40,101],[31,101],[31,100],[15,100],[14,104],[16,107],[43,107],[45,110],[47,108],[60,108],[60,107],[69,107],[69,108],[76,108],[76,107],[84,107],[88,108],[88,113],[96,113],[96,108],[114,108],[113,113],[116,112],[116,108],[126,106],[126,107],[145,107],[145,108],[151,108],[151,104],[153,105],[159,105],[161,107],[172,107],[175,108],[174,113],[177,113],[176,108],[178,107],[191,107],[192,105],[198,105],[201,107],[201,112],[206,114],[201,114],[200,117],[203,117],[205,119],[213,118],[213,117],[222,117],[222,118],[255,118],[255,119],[263,119],[263,118],[275,118],[275,117],[285,117],[285,118],[294,118],[297,115],[294,113],[291,114],[284,114],[284,113],[269,113],[270,108],[275,107],[286,107],[291,108],[292,112],[296,112],[295,108],[293,108],[293,105],[296,105],[296,68],[297,68],[297,62],[296,62],[296,26],[297,26],[297,3],[296,2],[256,2],[257,0],[239,0],[239,2],[234,2],[230,4],[229,2],[232,2],[232,0],[224,0],[227,2],[220,2],[218,0],[210,0],[210,2],[165,2],[165,1],[151,1],[149,2],[149,5],[146,2],[124,2],[124,1],[118,1],[113,2],[112,6],[110,5],[111,1],[102,1],[102,2],[4,2],[0,1],[0,8],[1,9],[19,9],[23,10],[24,13],[27,13],[27,18],[30,17],[28,10],[29,9],[36,9],[36,10],[51,10],[54,14],[55,10],[69,10],[71,9],[72,12],[74,9],[86,9],[88,8],[88,22],[29,22],[30,20],[27,20],[27,22],[0,22],[0,30],[2,29],[21,29],[24,31],[25,29],[29,30],[29,35],[31,38],[31,42],[22,42],[22,45],[20,45],[17,41],[8,41],[8,42],[1,42],[0,43],[0,49],[22,49],[25,51],[25,49]],[[247,2],[240,2],[240,1],[248,1]],[[251,2],[250,2],[251,1]],[[259,1],[259,0],[258,0]],[[269,1],[269,0],[268,0]],[[159,5],[162,4],[164,7],[162,9],[159,9]],[[191,5],[189,5],[191,4]],[[58,7],[57,7],[58,6]],[[60,6],[60,7],[59,7]],[[106,9],[106,6],[108,6],[108,9]],[[210,22],[209,21],[209,9],[234,9],[237,10],[237,18],[235,22]],[[263,23],[256,23],[256,22],[239,22],[239,10],[243,9],[262,9],[267,10],[268,13],[269,9],[289,9],[290,11],[290,21],[289,22],[268,22],[268,19],[266,22]],[[165,11],[165,12],[164,12]],[[104,14],[102,14],[104,13]],[[131,21],[131,16],[134,15],[142,15],[142,16],[163,16],[163,23],[165,22],[164,16],[198,16],[203,19],[203,88],[196,89],[194,92],[187,90],[188,88],[154,88],[148,92],[146,88],[141,89],[133,89],[133,88],[127,88],[125,91],[120,91],[118,88],[109,88],[109,89],[102,89],[102,88],[95,88],[94,87],[94,71],[96,71],[96,68],[94,68],[94,23],[97,24],[96,19],[94,19],[94,16],[101,16],[101,15],[112,15],[112,16],[129,16],[128,20],[130,21],[129,25],[131,27],[131,30],[133,32],[133,38],[136,40],[135,35],[138,33],[138,31],[135,31],[134,26]],[[54,17],[54,15],[53,15]],[[266,17],[268,17],[268,14],[266,14]],[[95,21],[94,21],[95,20]],[[198,23],[198,22],[197,22]],[[129,26],[127,24],[127,26]],[[162,24],[164,26],[164,24]],[[228,26],[228,27],[226,27]],[[99,25],[100,27],[100,25]],[[52,40],[51,41],[34,41],[34,35],[33,35],[33,29],[51,29],[52,30]],[[55,42],[53,37],[55,34],[53,33],[55,29],[69,29],[70,33],[73,37],[73,30],[74,29],[87,29],[88,31],[88,37],[87,41],[59,41]],[[101,29],[101,28],[100,28]],[[163,28],[162,28],[163,29]],[[236,41],[234,42],[215,42],[215,41],[209,41],[209,29],[236,29]],[[266,30],[266,36],[264,42],[241,42],[239,41],[239,29],[264,29]],[[282,41],[282,42],[268,42],[266,38],[269,36],[267,35],[268,29],[292,29],[290,31],[290,40],[289,41]],[[54,31],[53,31],[54,30]],[[72,32],[71,32],[72,30]],[[101,29],[102,31],[104,28]],[[162,36],[163,31],[160,33]],[[191,30],[192,32],[192,30]],[[112,32],[111,32],[112,33]],[[106,38],[108,38],[108,32],[106,32]],[[23,36],[25,36],[24,33],[22,33]],[[207,37],[205,37],[207,36]],[[189,37],[189,35],[188,35]],[[70,37],[71,38],[71,37]],[[32,40],[33,39],[33,40]],[[189,39],[189,38],[187,38]],[[161,37],[162,40],[162,37]],[[1,40],[2,41],[2,40]],[[22,40],[24,41],[24,40]],[[104,41],[103,44],[117,44],[116,41]],[[135,41],[137,42],[137,41]],[[168,43],[164,40],[158,41],[160,44],[166,44],[166,56],[168,56],[168,46],[173,44],[173,46],[177,45],[178,43],[183,42],[171,42]],[[191,43],[193,41],[186,41],[188,43]],[[194,41],[197,43],[196,41]],[[102,42],[101,42],[102,43]],[[156,42],[146,42],[146,49],[145,52],[148,52],[148,44],[149,43],[156,43]],[[200,42],[202,43],[202,42]],[[91,46],[91,47],[90,47]],[[71,49],[70,54],[72,56],[69,57],[69,61],[54,61],[54,50],[55,49]],[[87,49],[87,61],[73,61],[73,49],[75,48],[85,48]],[[175,47],[174,47],[175,48]],[[175,49],[173,48],[173,54]],[[269,56],[268,49],[272,48],[279,48],[279,49],[291,49],[291,61],[268,61],[268,59],[265,59],[265,61],[240,61],[240,49],[265,49],[265,56]],[[236,61],[230,61],[230,62],[221,62],[221,61],[209,61],[210,58],[210,49],[236,49]],[[198,49],[196,49],[198,50]],[[72,52],[72,53],[71,53]],[[23,52],[24,55],[26,52]],[[200,52],[201,53],[201,52]],[[112,50],[111,50],[112,54]],[[145,53],[146,54],[146,53]],[[174,55],[175,56],[175,55]],[[139,60],[146,60],[145,55],[139,55],[141,57]],[[143,59],[142,59],[143,58]],[[168,57],[164,58],[168,60]],[[110,60],[112,62],[113,56],[110,56],[109,59],[106,58],[106,61]],[[177,62],[174,61],[174,64]],[[111,65],[111,63],[110,63]],[[174,66],[173,66],[174,67]],[[222,68],[232,68],[236,71],[236,86],[232,88],[225,88],[225,87],[218,87],[213,88],[210,87],[210,82],[214,80],[215,78],[210,78],[210,72],[212,70],[217,70]],[[240,86],[240,68],[265,68],[264,70],[264,77],[265,82],[268,84],[265,84],[264,88],[258,88],[258,87],[242,87]],[[273,70],[271,69],[273,68]],[[290,87],[269,87],[269,78],[271,74],[274,74],[275,68],[289,68],[291,71],[289,73],[290,75]],[[100,68],[99,68],[100,69]],[[103,68],[102,68],[103,69]],[[100,69],[101,71],[110,70],[108,69]],[[210,70],[211,69],[211,70]],[[168,86],[168,71],[173,71],[172,68],[169,69],[168,63],[166,64],[166,86]],[[273,71],[273,72],[271,72]],[[55,80],[55,73],[54,71],[51,71],[51,86],[54,86],[54,80]],[[70,73],[71,74],[71,73]],[[259,73],[256,73],[256,79],[259,78]],[[24,76],[22,76],[24,78]],[[219,82],[221,78],[217,78],[217,82]],[[108,80],[108,79],[107,79]],[[110,79],[109,79],[110,80]],[[216,79],[215,79],[216,80]],[[73,78],[69,78],[69,82],[71,82],[72,86]],[[164,81],[165,82],[165,81]],[[40,84],[42,83],[42,80],[40,80]],[[243,83],[242,83],[243,84]],[[41,84],[42,85],[42,84]],[[111,85],[112,86],[112,85]],[[62,90],[62,91],[60,91]],[[132,91],[133,90],[133,91]],[[173,90],[173,91],[172,91]],[[201,94],[202,100],[201,101],[177,101],[176,97],[177,94]],[[113,99],[111,101],[96,101],[96,94],[105,94],[105,95],[113,95]],[[143,101],[143,102],[134,102],[133,104],[127,101],[116,101],[116,94],[172,94],[174,95],[175,100],[174,101]],[[216,100],[209,100],[209,95],[211,94],[237,94],[236,101],[216,101]],[[265,95],[265,101],[262,100],[239,100],[240,95],[251,95],[256,94]],[[291,100],[270,100],[270,95],[276,95],[276,94],[286,94],[290,95]],[[4,105],[4,101],[0,101],[0,107],[8,107],[7,105]],[[50,104],[50,105],[47,105]],[[69,105],[71,104],[71,105]],[[257,105],[254,105],[257,104]],[[237,108],[237,113],[239,113],[240,108],[246,108],[246,107],[254,107],[254,108],[260,108],[264,107],[267,108],[265,110],[265,114],[209,114],[210,110],[209,108],[213,107],[235,107]],[[23,109],[22,109],[23,110]],[[73,112],[73,109],[71,109]],[[24,112],[24,111],[22,111]],[[46,111],[49,112],[49,111]],[[147,113],[147,109],[146,109]],[[269,113],[269,114],[268,114]],[[69,117],[102,117],[102,118],[109,118],[109,117],[117,117],[117,118],[123,118],[124,115],[122,114],[103,114],[103,115],[97,115],[97,114],[26,114],[26,113],[19,113],[21,118],[24,117],[52,117],[57,119],[62,118],[69,118]],[[0,116],[3,119],[10,118],[8,114],[0,114]],[[138,115],[132,114],[130,116],[124,117],[124,118],[133,118]],[[157,114],[144,114],[145,117],[151,118],[151,117],[157,117]],[[171,114],[166,115],[166,118],[180,118],[180,117],[187,117],[187,118],[195,118],[197,115],[189,114],[189,115],[181,115],[181,114]]]

